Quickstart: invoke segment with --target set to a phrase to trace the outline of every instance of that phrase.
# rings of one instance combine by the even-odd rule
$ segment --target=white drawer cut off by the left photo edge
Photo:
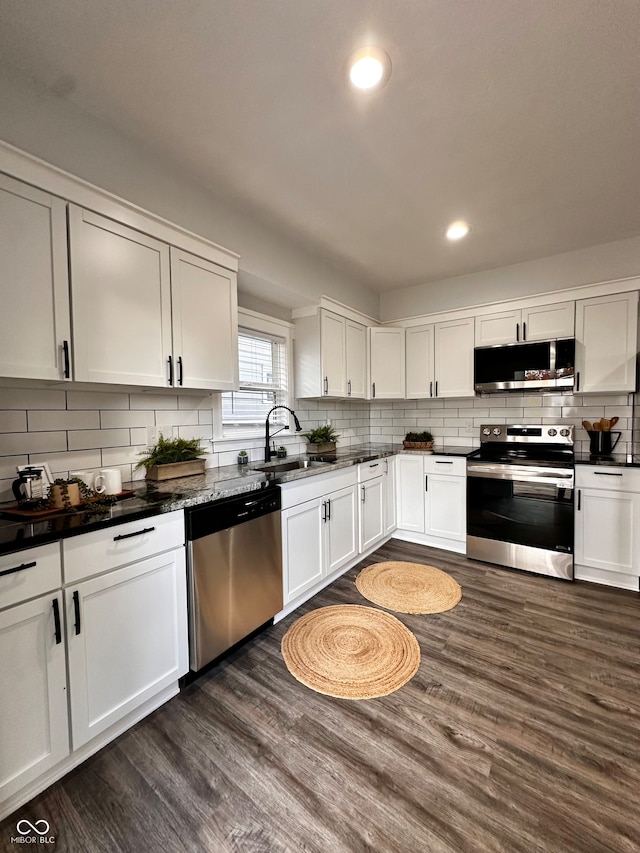
[[[9,574],[4,575],[3,572]],[[61,586],[59,542],[0,556],[0,608],[44,595]]]

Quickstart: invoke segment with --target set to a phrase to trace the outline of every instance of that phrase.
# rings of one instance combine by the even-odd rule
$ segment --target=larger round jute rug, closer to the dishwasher
[[[413,678],[420,646],[390,613],[342,604],[296,620],[282,638],[282,657],[291,675],[318,693],[374,699]]]

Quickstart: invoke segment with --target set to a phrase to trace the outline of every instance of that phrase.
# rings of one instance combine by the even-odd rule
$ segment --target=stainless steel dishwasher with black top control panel
[[[193,671],[282,610],[280,507],[273,486],[187,510]]]

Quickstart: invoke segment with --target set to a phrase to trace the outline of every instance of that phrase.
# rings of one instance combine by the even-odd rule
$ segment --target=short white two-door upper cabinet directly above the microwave
[[[575,302],[556,302],[476,317],[475,343],[477,347],[489,347],[549,341],[572,338],[574,333]]]

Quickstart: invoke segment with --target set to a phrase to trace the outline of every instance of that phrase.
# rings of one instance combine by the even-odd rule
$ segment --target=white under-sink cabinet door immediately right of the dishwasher
[[[285,604],[313,589],[324,576],[324,514],[321,498],[282,510]]]

